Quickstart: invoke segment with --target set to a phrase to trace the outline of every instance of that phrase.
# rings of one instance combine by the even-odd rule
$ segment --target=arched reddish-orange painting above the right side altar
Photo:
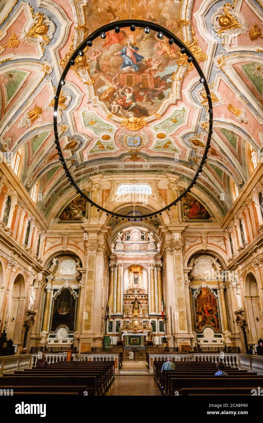
[[[205,327],[211,327],[214,332],[221,332],[220,313],[217,299],[217,289],[214,293],[207,287],[202,287],[193,297],[195,328],[197,333],[203,332]]]

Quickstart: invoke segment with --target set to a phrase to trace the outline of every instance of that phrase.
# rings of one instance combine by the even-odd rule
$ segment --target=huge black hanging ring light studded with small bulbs
[[[202,78],[202,83],[203,83],[203,86],[204,86],[205,91],[206,91],[206,96],[207,96],[207,101],[208,101],[208,106],[209,106],[209,109],[208,109],[208,112],[209,112],[209,131],[208,131],[208,136],[207,136],[207,140],[206,140],[206,147],[205,147],[203,158],[201,159],[198,170],[196,171],[195,176],[193,177],[192,181],[190,182],[188,187],[182,192],[182,194],[180,194],[179,197],[177,197],[176,200],[174,200],[172,203],[168,204],[168,206],[163,207],[163,209],[160,209],[158,211],[154,211],[153,213],[143,214],[140,217],[130,216],[130,215],[126,215],[126,214],[119,214],[119,213],[115,213],[114,211],[104,209],[103,207],[94,203],[94,201],[92,201],[78,187],[78,185],[74,181],[73,177],[71,176],[71,173],[68,170],[68,166],[66,165],[66,162],[64,160],[63,153],[62,153],[62,150],[60,148],[60,143],[59,143],[59,139],[58,139],[58,132],[57,132],[58,101],[59,101],[59,96],[60,96],[62,84],[65,81],[65,77],[66,77],[66,75],[67,75],[67,73],[70,69],[70,66],[71,66],[70,60],[74,60],[78,56],[79,51],[83,50],[85,47],[87,47],[87,41],[93,41],[93,40],[95,40],[95,38],[98,38],[101,33],[106,33],[108,31],[114,30],[115,27],[123,28],[123,27],[130,27],[131,25],[135,25],[136,27],[140,27],[140,28],[149,27],[153,31],[162,32],[164,37],[167,37],[169,40],[174,39],[175,44],[178,47],[180,47],[180,49],[183,48],[185,50],[185,54],[188,56],[188,58],[192,58],[191,63],[193,63],[193,65],[195,66],[195,69],[198,71],[198,74],[200,75],[200,78]],[[63,82],[61,83],[61,81],[63,81]],[[206,81],[206,78],[205,78],[203,71],[201,69],[201,66],[199,65],[198,61],[195,59],[195,56],[192,54],[190,49],[188,49],[188,47],[178,37],[176,37],[176,35],[174,35],[170,31],[166,30],[162,26],[157,25],[153,22],[141,21],[141,20],[136,20],[136,19],[126,19],[126,20],[122,20],[122,21],[111,22],[111,23],[109,23],[107,25],[103,25],[102,27],[93,31],[89,36],[87,36],[84,39],[84,41],[82,41],[82,43],[76,48],[76,50],[72,53],[71,57],[69,58],[68,63],[66,64],[65,69],[63,70],[62,75],[60,77],[60,81],[59,81],[58,86],[57,86],[57,91],[56,91],[56,95],[54,97],[54,100],[55,100],[55,102],[54,102],[54,115],[53,115],[54,135],[55,135],[56,148],[57,148],[58,154],[60,156],[60,160],[62,162],[63,168],[65,169],[65,173],[68,177],[68,180],[70,181],[70,184],[73,185],[74,189],[81,195],[81,197],[85,198],[85,200],[88,201],[91,206],[95,206],[95,207],[97,207],[97,209],[99,209],[101,211],[105,211],[107,213],[107,215],[111,214],[111,216],[115,216],[116,218],[122,217],[122,218],[129,219],[129,220],[131,220],[131,219],[142,220],[142,219],[145,219],[147,217],[157,216],[157,214],[161,214],[165,210],[170,210],[170,208],[172,206],[174,206],[176,203],[178,203],[178,201],[182,200],[184,195],[186,195],[187,192],[190,192],[193,185],[196,184],[196,180],[198,179],[199,173],[202,172],[203,165],[204,165],[204,163],[206,163],[207,152],[210,148],[211,134],[212,134],[212,129],[213,129],[213,104],[212,104],[212,100],[211,100],[210,90],[209,90],[209,86],[208,86],[208,83]]]

